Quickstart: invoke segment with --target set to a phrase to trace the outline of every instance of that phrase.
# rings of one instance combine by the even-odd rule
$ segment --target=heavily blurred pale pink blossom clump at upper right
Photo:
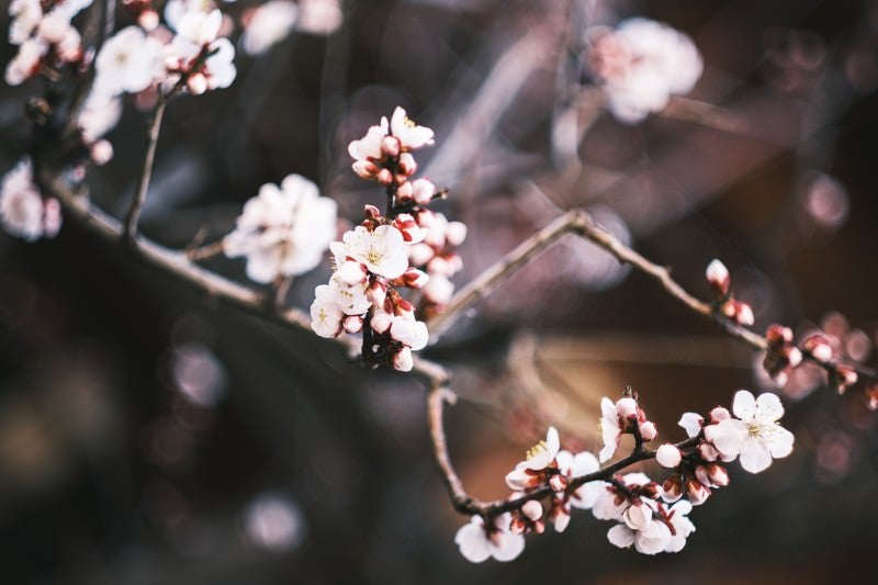
[[[701,76],[701,56],[684,33],[646,19],[629,19],[615,30],[594,27],[589,63],[603,81],[614,115],[637,123],[663,110],[672,94],[691,91]]]

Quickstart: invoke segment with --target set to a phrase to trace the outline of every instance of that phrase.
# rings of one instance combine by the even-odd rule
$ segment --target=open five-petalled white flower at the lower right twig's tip
[[[732,412],[738,418],[727,418],[705,427],[705,438],[727,458],[741,457],[741,466],[758,473],[772,464],[772,459],[792,452],[795,437],[777,424],[784,406],[776,394],[766,392],[754,398],[746,390],[734,395]]]

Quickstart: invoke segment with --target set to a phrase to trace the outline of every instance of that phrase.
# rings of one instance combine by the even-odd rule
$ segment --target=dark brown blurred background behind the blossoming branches
[[[222,8],[239,22],[255,4]],[[357,222],[383,195],[350,171],[347,144],[403,105],[436,130],[419,173],[451,189],[441,210],[470,228],[459,283],[584,206],[701,297],[721,258],[755,330],[821,326],[875,363],[878,2],[342,11],[331,34],[239,50],[232,88],[169,106],[146,235],[215,241],[260,184],[291,172]],[[686,99],[637,125],[595,108],[583,35],[632,15],[686,32],[705,61]],[[0,88],[0,171],[26,151],[23,102],[42,89]],[[108,135],[115,157],[89,171],[93,201],[117,216],[144,124],[130,100]],[[583,136],[564,142],[571,124]],[[206,265],[245,280],[243,262]],[[859,390],[838,397],[810,370],[785,389],[793,454],[758,476],[733,465],[730,487],[690,515],[683,552],[618,550],[611,524],[581,511],[564,535],[528,537],[510,564],[472,565],[453,543],[468,519],[434,466],[416,380],[215,306],[72,221],[35,244],[0,234],[0,267],[2,583],[825,583],[871,567],[876,418]],[[307,307],[328,273],[296,280],[290,303]],[[758,356],[572,237],[424,355],[454,376],[450,447],[481,498],[506,495],[505,473],[549,425],[596,450],[599,400],[626,385],[666,440],[684,438],[683,412],[770,387]]]

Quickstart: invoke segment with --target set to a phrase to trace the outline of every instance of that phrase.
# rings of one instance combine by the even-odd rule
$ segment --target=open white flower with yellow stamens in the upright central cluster
[[[402,277],[408,268],[403,234],[393,226],[380,225],[370,232],[358,225],[341,239],[330,245],[336,266],[350,258],[364,265],[372,274],[391,280]]]

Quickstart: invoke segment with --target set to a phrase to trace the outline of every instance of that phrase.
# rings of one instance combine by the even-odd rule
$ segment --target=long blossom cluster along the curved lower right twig
[[[792,434],[777,424],[784,407],[770,393],[754,397],[739,391],[732,413],[718,406],[707,423],[696,413],[684,414],[679,425],[689,438],[662,445],[655,451],[643,446],[656,432],[635,397],[626,395],[616,403],[604,398],[601,410],[605,447],[600,460],[612,457],[619,435],[631,434],[637,443],[624,462],[655,458],[671,472],[664,483],[641,472],[601,472],[593,453],[561,449],[558,431],[550,428],[545,439],[506,475],[506,484],[513,490],[508,497],[513,509],[494,517],[474,516],[458,530],[454,541],[465,559],[509,561],[524,550],[525,533],[543,532],[547,521],[563,531],[572,508],[590,508],[596,519],[615,521],[607,539],[617,547],[633,547],[643,554],[678,552],[695,532],[688,518],[693,506],[703,504],[712,490],[729,484],[724,463],[740,458],[744,470],[758,473],[773,459],[792,451]]]

